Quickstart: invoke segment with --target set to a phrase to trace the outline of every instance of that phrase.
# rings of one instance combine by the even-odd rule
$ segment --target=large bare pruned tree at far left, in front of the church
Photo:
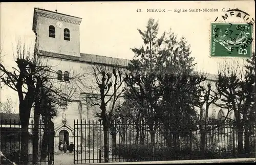
[[[2,62],[0,63],[1,87],[7,85],[9,88],[17,91],[18,94],[19,119],[22,126],[20,159],[23,164],[28,163],[29,119],[31,108],[38,103],[36,100],[38,98],[37,96],[40,95],[40,89],[45,88],[51,91],[53,93],[52,97],[54,98],[60,98],[63,93],[62,88],[59,88],[60,86],[56,85],[54,81],[57,75],[56,71],[52,70],[51,66],[47,65],[47,63],[36,58],[37,53],[36,50],[26,50],[25,45],[19,40],[16,52],[13,52],[17,66],[12,67],[13,70],[9,71]],[[73,92],[70,92],[70,96],[72,94]],[[55,103],[59,102],[57,101]],[[35,108],[35,110],[38,110],[38,108]],[[38,111],[34,114],[38,119]],[[36,120],[36,122],[38,124],[39,121]]]

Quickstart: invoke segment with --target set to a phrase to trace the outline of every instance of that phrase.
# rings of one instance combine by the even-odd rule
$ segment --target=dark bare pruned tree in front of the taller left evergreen
[[[155,143],[155,133],[158,127],[158,101],[161,97],[160,86],[157,84],[157,74],[150,73],[146,75],[127,74],[125,83],[125,97],[132,99],[140,104],[141,114],[145,124],[148,125],[151,134],[152,148]]]

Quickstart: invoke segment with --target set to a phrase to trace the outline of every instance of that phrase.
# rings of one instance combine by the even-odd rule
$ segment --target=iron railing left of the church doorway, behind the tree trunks
[[[54,152],[52,154],[49,152],[49,142],[46,135],[45,124],[42,121],[38,124],[38,151],[34,151],[34,139],[35,133],[33,132],[35,123],[31,121],[29,123],[28,132],[28,153],[29,153],[29,164],[33,162],[33,155],[35,152],[38,153],[38,164],[53,164],[54,162]],[[6,158],[15,162],[20,163],[20,150],[22,146],[21,142],[21,129],[20,121],[15,120],[0,120],[0,149]],[[52,144],[53,145],[53,144]]]

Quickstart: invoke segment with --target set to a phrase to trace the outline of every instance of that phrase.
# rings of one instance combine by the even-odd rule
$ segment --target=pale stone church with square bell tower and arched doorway
[[[88,99],[84,99],[91,94],[95,95],[93,91],[86,88],[94,83],[93,78],[84,79],[84,84],[73,84],[70,78],[75,74],[86,74],[94,65],[125,67],[129,62],[126,59],[81,53],[81,21],[82,18],[79,17],[45,9],[34,9],[32,30],[36,37],[36,56],[55,70],[56,85],[63,88],[63,91],[66,90],[67,97],[70,98],[72,95],[72,102],[60,107],[58,116],[53,119],[55,150],[58,148],[60,140],[66,141],[68,144],[74,143],[74,120],[88,121],[94,118],[95,108],[88,104]],[[213,114],[213,111],[209,113],[217,117],[220,108],[212,109],[216,109],[215,113]]]

